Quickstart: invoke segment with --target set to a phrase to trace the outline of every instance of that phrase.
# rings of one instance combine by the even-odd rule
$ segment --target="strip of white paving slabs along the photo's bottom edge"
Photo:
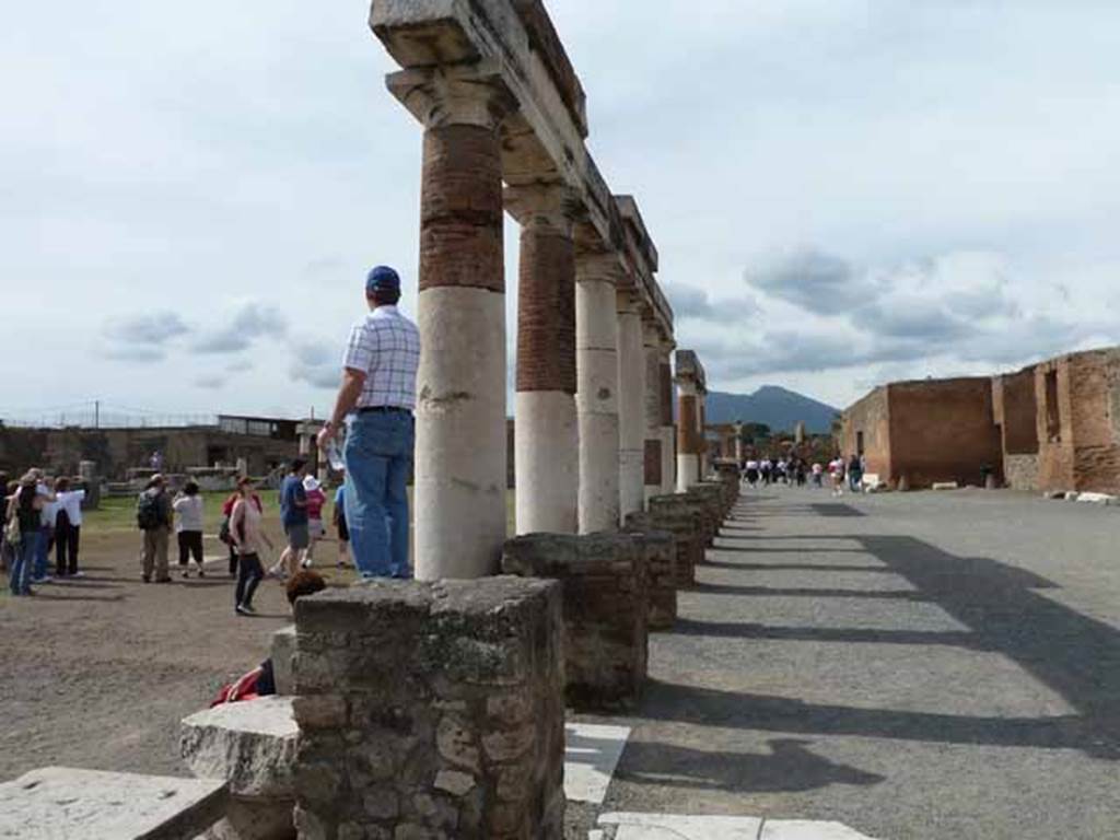
[[[762,820],[755,816],[610,813],[599,825],[616,827],[614,840],[874,840],[839,822]],[[604,840],[592,831],[588,840]]]

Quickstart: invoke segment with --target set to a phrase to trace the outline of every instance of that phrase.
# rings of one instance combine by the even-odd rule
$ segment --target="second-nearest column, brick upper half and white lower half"
[[[514,470],[517,533],[576,533],[576,250],[560,186],[511,187],[521,222]]]

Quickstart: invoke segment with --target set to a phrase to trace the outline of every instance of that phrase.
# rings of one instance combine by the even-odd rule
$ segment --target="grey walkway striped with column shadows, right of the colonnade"
[[[698,572],[603,813],[1120,832],[1120,510],[776,488]]]

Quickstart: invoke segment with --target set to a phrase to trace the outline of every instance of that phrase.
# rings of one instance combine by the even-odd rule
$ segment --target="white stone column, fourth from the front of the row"
[[[618,498],[623,519],[645,508],[645,354],[637,295],[618,292]]]

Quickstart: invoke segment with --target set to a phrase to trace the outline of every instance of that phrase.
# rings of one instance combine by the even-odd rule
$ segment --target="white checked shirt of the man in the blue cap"
[[[357,408],[417,404],[420,330],[395,306],[379,306],[351,330],[343,365],[365,374]]]

